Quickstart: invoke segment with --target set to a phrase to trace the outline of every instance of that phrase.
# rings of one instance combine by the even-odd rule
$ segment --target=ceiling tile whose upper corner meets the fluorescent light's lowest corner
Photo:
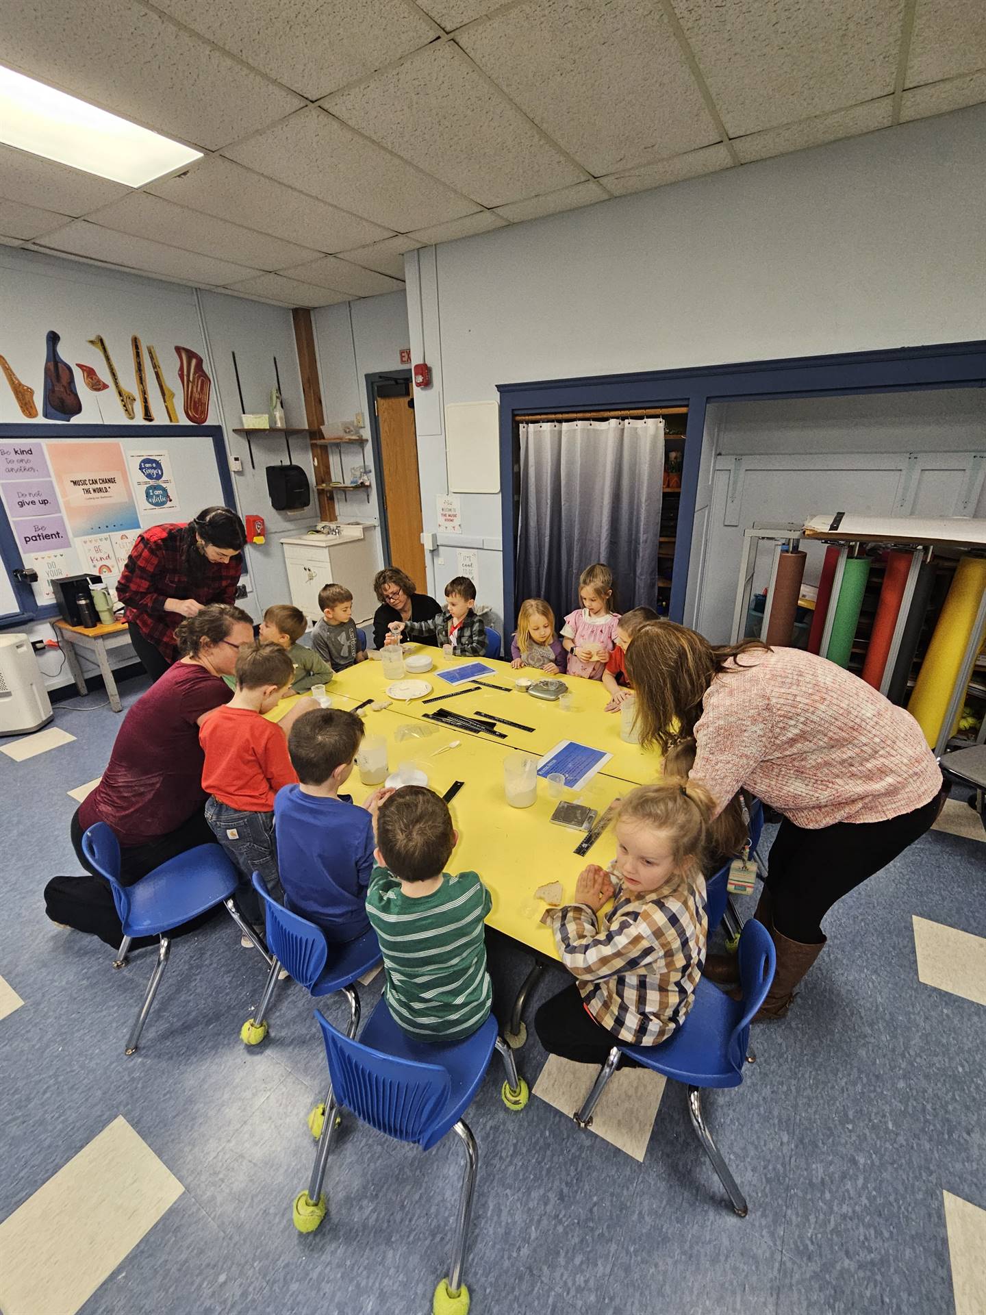
[[[217,220],[212,214],[187,210],[181,205],[163,201],[159,196],[134,192],[133,196],[88,218],[104,229],[131,233],[138,238],[166,242],[184,251],[197,251],[218,260],[234,260],[251,270],[280,270],[285,264],[301,264],[316,255],[309,247],[281,242],[266,233],[251,233],[238,224]]]

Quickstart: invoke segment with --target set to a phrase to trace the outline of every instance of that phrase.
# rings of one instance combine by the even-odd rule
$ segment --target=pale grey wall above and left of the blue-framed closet
[[[443,406],[497,384],[986,337],[985,217],[979,105],[410,252],[425,529]],[[500,608],[500,494],[461,501]]]

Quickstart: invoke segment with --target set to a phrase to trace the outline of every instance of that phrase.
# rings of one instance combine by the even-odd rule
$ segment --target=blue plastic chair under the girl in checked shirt
[[[774,965],[773,942],[766,928],[751,918],[739,944],[741,999],[735,1001],[705,977],[699,978],[692,1010],[677,1032],[660,1045],[614,1045],[585,1103],[575,1115],[580,1128],[589,1127],[603,1088],[619,1066],[621,1055],[686,1084],[692,1127],[740,1218],[745,1218],[747,1202],[706,1127],[701,1097],[702,1088],[739,1086],[744,1063],[753,1063],[747,1048],[749,1022],[770,989]]]

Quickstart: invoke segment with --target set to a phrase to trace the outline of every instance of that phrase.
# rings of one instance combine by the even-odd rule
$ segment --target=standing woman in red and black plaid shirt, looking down
[[[120,573],[130,643],[151,680],[177,658],[175,627],[210,602],[231,604],[243,569],[243,522],[206,506],[188,525],[155,525],[138,535]]]

